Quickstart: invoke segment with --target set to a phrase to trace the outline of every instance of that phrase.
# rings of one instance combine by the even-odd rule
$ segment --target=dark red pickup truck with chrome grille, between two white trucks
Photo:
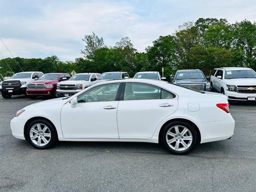
[[[60,81],[68,80],[70,75],[67,73],[46,73],[34,82],[27,85],[26,94],[30,98],[37,96],[56,96],[56,86]]]

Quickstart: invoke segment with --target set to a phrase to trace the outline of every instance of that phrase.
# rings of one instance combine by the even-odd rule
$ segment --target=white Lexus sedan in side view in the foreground
[[[58,140],[152,142],[173,154],[228,139],[234,126],[225,95],[148,79],[98,83],[27,106],[11,121],[12,134],[38,149]]]

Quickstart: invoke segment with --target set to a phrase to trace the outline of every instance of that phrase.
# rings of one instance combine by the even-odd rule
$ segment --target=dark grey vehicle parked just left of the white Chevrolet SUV
[[[209,77],[199,69],[178,70],[174,77],[171,77],[173,83],[182,85],[198,91],[211,91],[211,85],[208,82]]]

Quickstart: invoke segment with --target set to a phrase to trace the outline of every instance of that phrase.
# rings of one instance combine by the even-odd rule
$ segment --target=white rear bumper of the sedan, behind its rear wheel
[[[235,120],[228,114],[222,121],[198,123],[201,142],[212,142],[230,138],[234,134]]]

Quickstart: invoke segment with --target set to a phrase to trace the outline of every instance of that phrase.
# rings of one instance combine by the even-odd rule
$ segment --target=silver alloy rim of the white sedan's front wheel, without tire
[[[30,139],[37,146],[45,146],[51,140],[50,129],[42,123],[33,125],[30,129]]]

